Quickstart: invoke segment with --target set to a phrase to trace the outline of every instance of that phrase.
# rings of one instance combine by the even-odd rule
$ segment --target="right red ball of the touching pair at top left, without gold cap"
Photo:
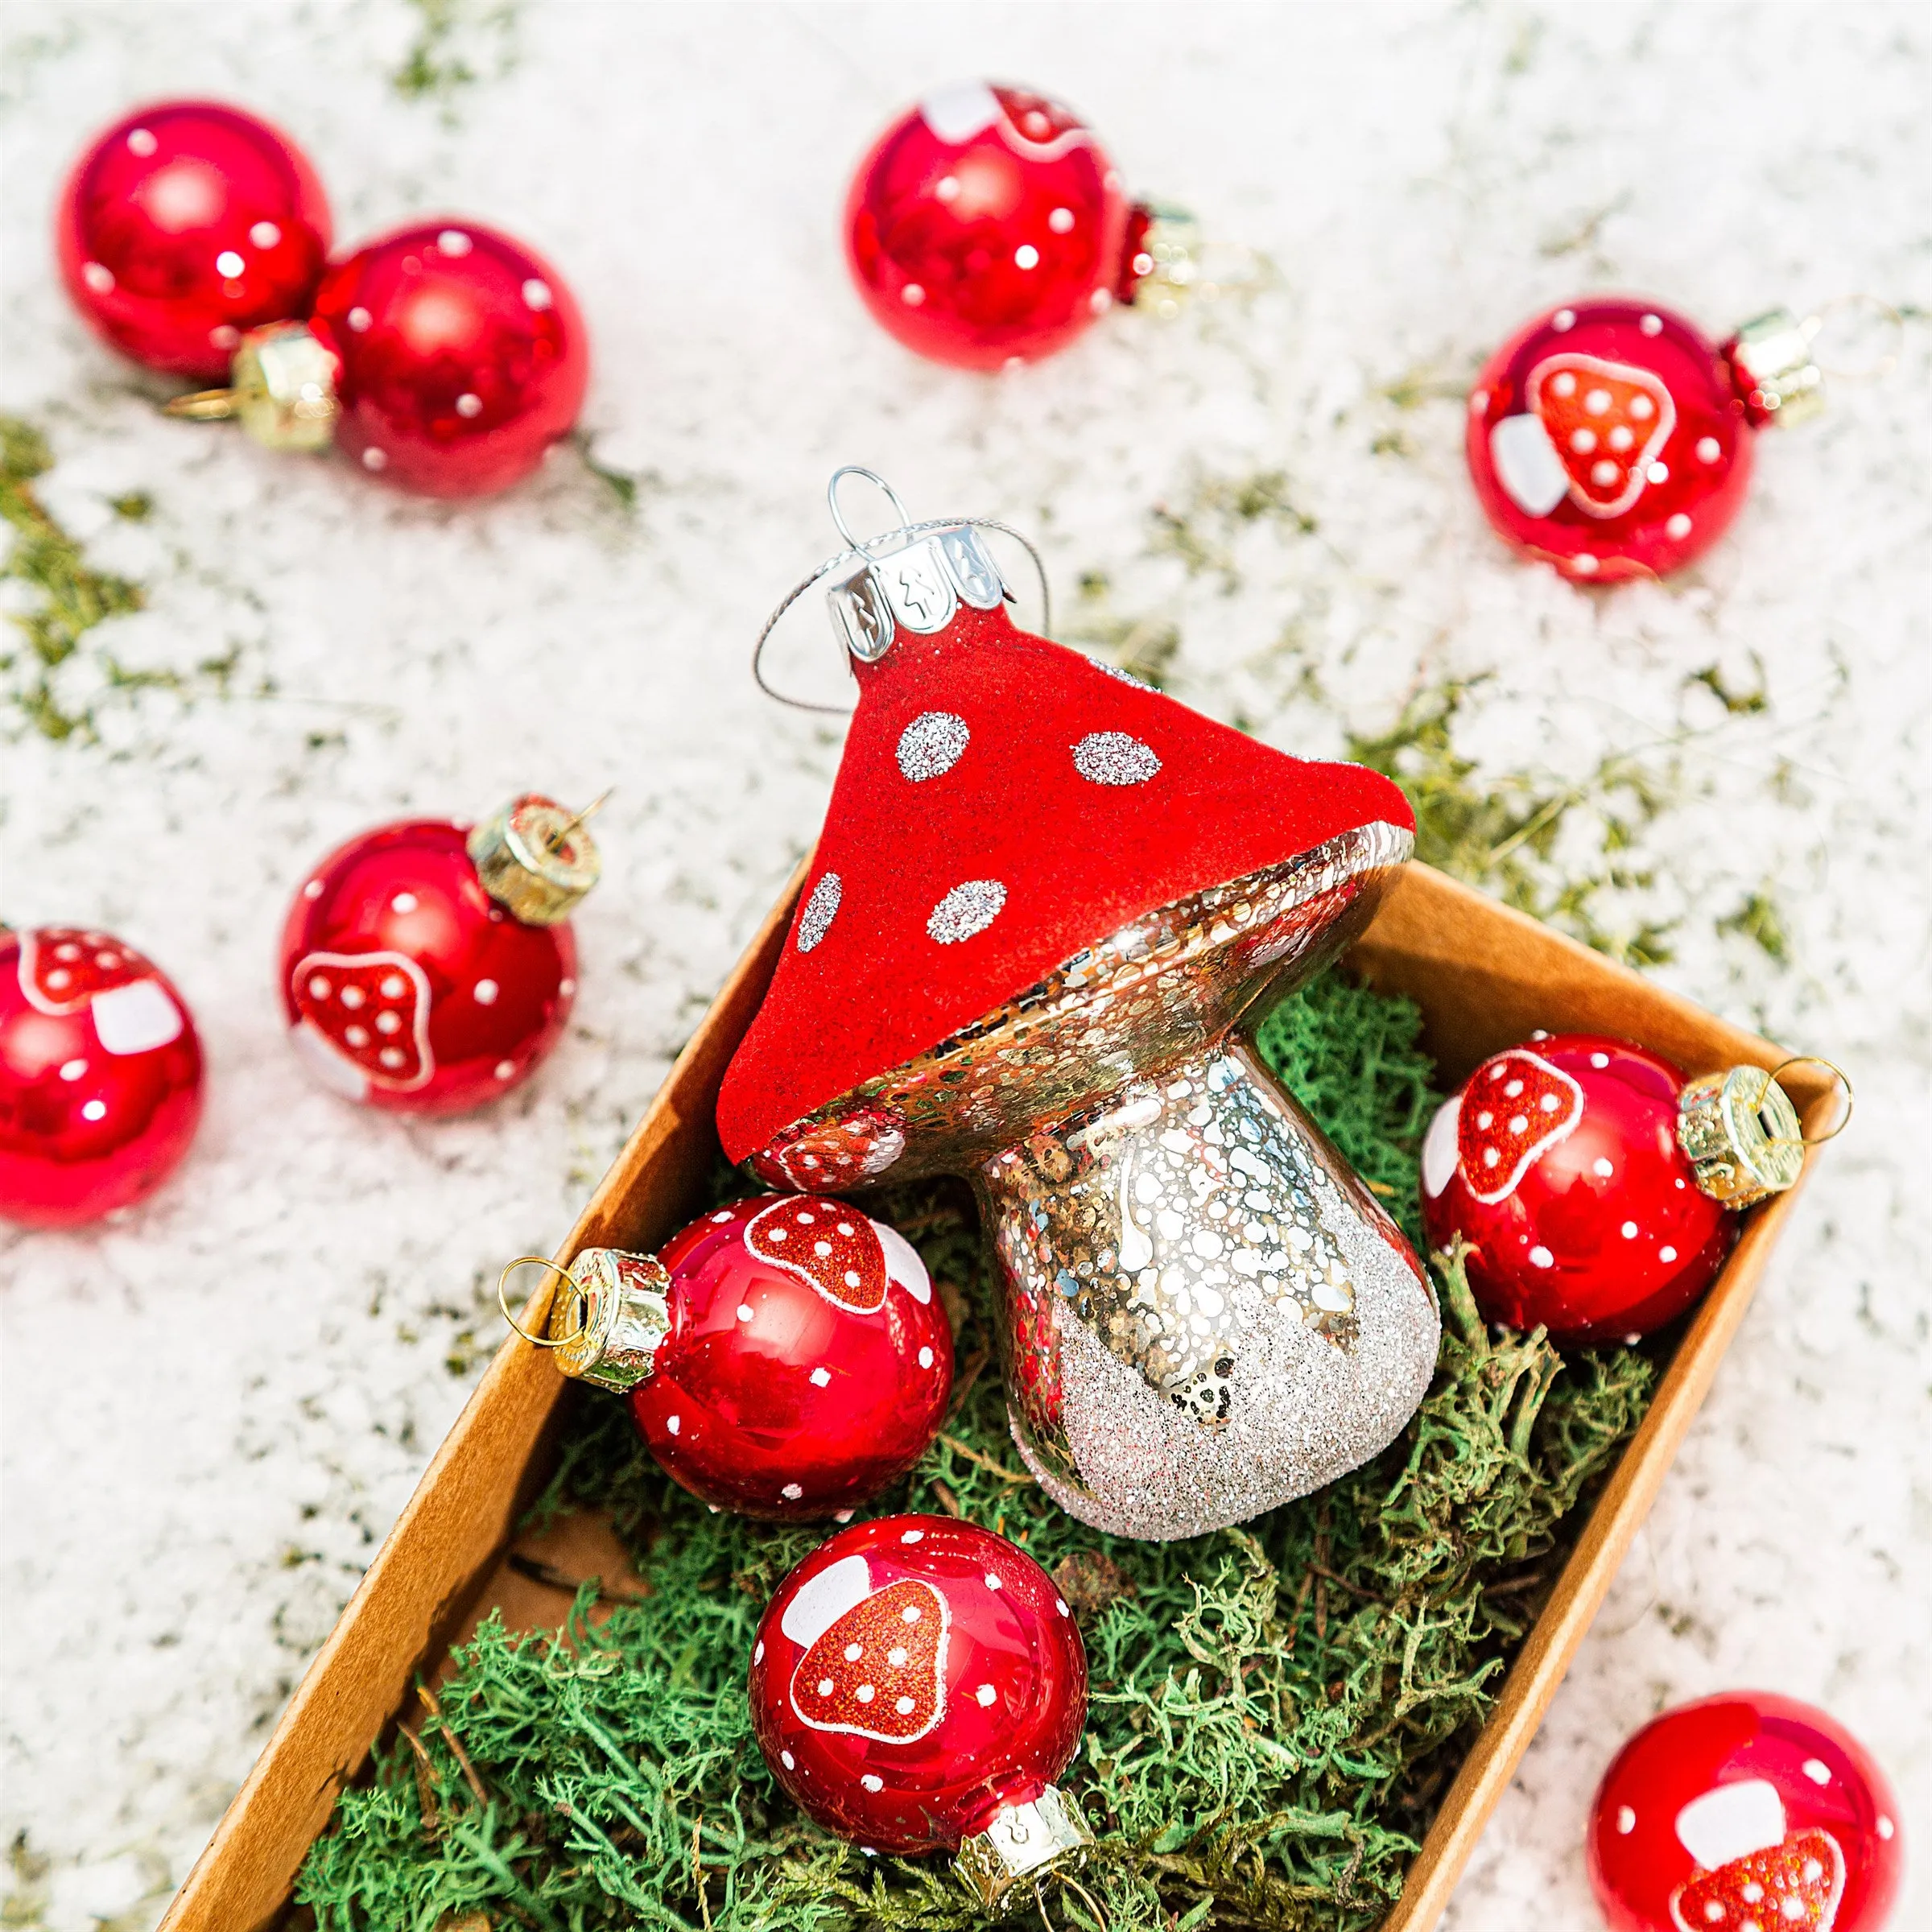
[[[412,222],[334,263],[309,327],[342,361],[336,442],[427,497],[508,489],[583,406],[576,299],[541,255],[475,222]]]

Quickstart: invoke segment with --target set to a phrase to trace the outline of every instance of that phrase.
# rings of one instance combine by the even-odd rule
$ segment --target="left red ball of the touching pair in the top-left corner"
[[[220,383],[243,328],[307,315],[328,201],[267,122],[216,100],[156,100],[75,162],[54,238],[97,334],[151,369]]]

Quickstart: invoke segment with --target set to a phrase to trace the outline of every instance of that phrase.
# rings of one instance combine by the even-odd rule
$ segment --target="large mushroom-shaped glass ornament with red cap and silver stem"
[[[1014,1437],[1082,1520],[1198,1536],[1352,1468],[1434,1296],[1235,1026],[1366,923],[1401,792],[1016,630],[968,522],[846,553],[831,601],[858,711],[726,1155],[972,1179]]]

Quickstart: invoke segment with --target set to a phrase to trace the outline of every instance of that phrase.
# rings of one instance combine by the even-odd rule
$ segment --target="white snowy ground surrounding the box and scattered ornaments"
[[[1285,748],[1335,755],[1484,680],[1453,719],[1470,782],[1586,794],[1551,858],[1619,871],[1600,925],[1673,922],[1660,978],[1851,1068],[1857,1122],[1447,1922],[1592,1924],[1580,1833],[1615,1743],[1762,1685],[1889,1768],[1918,1841],[1895,1924],[1932,1924],[1924,12],[524,4],[440,39],[429,17],[6,15],[0,394],[52,442],[48,510],[149,593],[56,672],[93,734],[6,709],[6,916],[124,935],[209,1053],[166,1192],[0,1246],[6,1920],[158,1917],[495,1345],[497,1267],[568,1227],[810,840],[837,723],[761,699],[746,653],[833,549],[827,473],[864,462],[914,516],[1026,529],[1063,638],[1144,665],[1179,639],[1171,688]],[[435,85],[412,95],[417,44]],[[846,284],[837,211],[891,114],[976,75],[1076,102],[1130,187],[1275,280],[1103,319],[997,381],[910,359]],[[170,93],[286,126],[344,240],[439,211],[533,240],[583,303],[591,454],[634,506],[572,450],[437,506],[162,421],[68,311],[48,218],[83,139]],[[1592,595],[1492,539],[1461,396],[1532,311],[1602,286],[1714,332],[1870,292],[1907,311],[1903,359],[1762,439],[1696,570]],[[110,506],[129,491],[141,522]],[[815,611],[773,670],[837,694]],[[1605,856],[1619,757],[1656,810],[1613,794]],[[303,869],[384,817],[611,782],[576,1020],[541,1074],[429,1126],[321,1092],[270,983]]]

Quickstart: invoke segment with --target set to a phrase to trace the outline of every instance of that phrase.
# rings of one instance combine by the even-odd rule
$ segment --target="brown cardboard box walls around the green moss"
[[[655,1248],[701,1206],[717,1153],[711,1113],[719,1082],[763,999],[802,877],[804,867],[556,1250],[558,1262],[587,1246]],[[1538,1026],[1638,1039],[1690,1072],[1776,1066],[1787,1057],[1426,866],[1405,867],[1350,964],[1370,983],[1422,1007],[1426,1045],[1449,1080]],[[1835,1101],[1824,1078],[1793,1078],[1789,1092],[1806,1126],[1828,1124]],[[1704,1401],[1795,1192],[1748,1217],[1679,1339],[1650,1412],[1582,1524],[1383,1932],[1428,1932],[1441,1917]],[[543,1289],[531,1300],[526,1325],[541,1320],[547,1294]],[[419,1673],[433,1677],[450,1644],[493,1607],[512,1629],[560,1623],[570,1592],[553,1577],[626,1573],[616,1538],[595,1519],[574,1519],[562,1542],[553,1534],[541,1546],[512,1548],[518,1519],[554,1466],[570,1389],[526,1343],[512,1337],[497,1350],[176,1893],[162,1932],[259,1932],[272,1924],[336,1793],[404,1714]]]

